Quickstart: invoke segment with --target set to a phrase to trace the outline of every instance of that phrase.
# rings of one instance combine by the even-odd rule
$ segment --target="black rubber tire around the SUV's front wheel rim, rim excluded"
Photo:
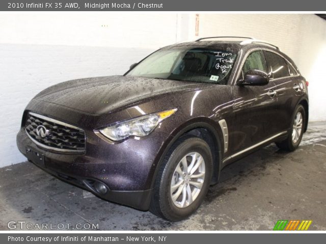
[[[198,153],[202,156],[204,160],[204,165],[202,167],[205,168],[205,175],[203,176],[203,184],[198,196],[191,204],[181,208],[176,206],[172,200],[171,182],[175,174],[175,169],[179,165],[181,159],[191,153]],[[154,215],[171,222],[181,221],[192,215],[201,205],[207,194],[212,174],[212,163],[212,154],[206,141],[189,136],[180,138],[172,146],[160,166],[155,180],[150,211]],[[188,185],[191,186],[191,183]]]

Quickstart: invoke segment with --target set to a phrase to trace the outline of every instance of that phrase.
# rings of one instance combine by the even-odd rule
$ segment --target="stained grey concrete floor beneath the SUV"
[[[279,219],[326,230],[326,123],[311,123],[293,153],[271,144],[226,167],[189,219],[169,223],[101,200],[33,164],[0,169],[0,230],[11,220],[93,223],[100,230],[272,230]]]

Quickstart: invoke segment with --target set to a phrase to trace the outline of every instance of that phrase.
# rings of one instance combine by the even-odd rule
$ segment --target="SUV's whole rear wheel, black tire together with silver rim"
[[[301,118],[298,116],[300,116]],[[294,151],[301,142],[302,136],[304,134],[305,124],[306,124],[305,108],[302,105],[298,105],[294,112],[294,116],[291,123],[291,130],[288,137],[284,141],[276,142],[276,145],[282,150]]]

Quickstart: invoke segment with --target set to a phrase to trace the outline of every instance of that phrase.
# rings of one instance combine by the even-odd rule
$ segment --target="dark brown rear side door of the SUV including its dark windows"
[[[295,104],[303,93],[302,77],[278,53],[264,51],[264,54],[277,92],[277,112],[274,114],[275,123],[270,131],[283,132],[289,129]]]

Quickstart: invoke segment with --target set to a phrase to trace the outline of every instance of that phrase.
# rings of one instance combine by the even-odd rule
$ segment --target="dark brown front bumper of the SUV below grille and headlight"
[[[22,127],[17,134],[17,146],[29,161],[70,184],[105,200],[148,210],[155,158],[162,144],[159,141],[166,137],[164,133],[155,133],[146,139],[108,143],[93,131],[86,131],[85,153],[64,154],[35,144]],[[43,162],[34,160],[28,150],[41,155]],[[107,187],[105,194],[94,189],[92,184],[96,181]]]

